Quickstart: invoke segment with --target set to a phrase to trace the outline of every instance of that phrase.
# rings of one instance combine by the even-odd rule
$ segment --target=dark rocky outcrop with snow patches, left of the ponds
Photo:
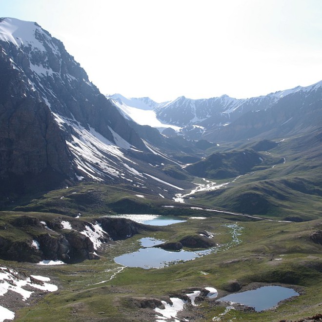
[[[40,220],[19,215],[0,225],[0,258],[65,263],[100,259],[97,252],[107,244],[143,230],[155,228],[123,218],[99,218],[89,222],[65,216]]]

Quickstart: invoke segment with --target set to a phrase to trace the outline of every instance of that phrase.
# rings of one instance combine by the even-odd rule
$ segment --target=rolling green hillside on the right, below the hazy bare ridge
[[[281,141],[266,155],[284,159],[282,163],[277,162],[266,169],[253,167],[238,179],[212,177],[219,183],[230,183],[219,190],[196,194],[193,202],[286,220],[302,221],[321,217],[320,133]],[[209,171],[204,174],[209,174]]]

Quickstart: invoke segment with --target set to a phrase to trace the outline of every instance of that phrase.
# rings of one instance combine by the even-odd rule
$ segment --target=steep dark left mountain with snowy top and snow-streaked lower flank
[[[44,182],[77,181],[76,174],[121,179],[121,162],[113,166],[129,162],[121,150],[147,150],[60,40],[37,23],[0,19],[0,72],[4,183],[18,189],[43,174],[51,176]]]

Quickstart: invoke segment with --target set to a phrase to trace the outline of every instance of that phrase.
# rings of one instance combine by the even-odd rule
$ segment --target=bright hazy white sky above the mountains
[[[322,80],[322,0],[0,0],[103,94],[246,98]]]

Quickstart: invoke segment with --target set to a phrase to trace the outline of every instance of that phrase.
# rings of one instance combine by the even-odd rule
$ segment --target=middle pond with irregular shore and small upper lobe
[[[164,241],[154,238],[142,238],[142,247],[151,247]],[[115,262],[129,267],[161,268],[170,264],[190,261],[195,258],[216,252],[218,247],[199,251],[169,251],[161,248],[141,248],[137,252],[124,254],[114,259]]]

